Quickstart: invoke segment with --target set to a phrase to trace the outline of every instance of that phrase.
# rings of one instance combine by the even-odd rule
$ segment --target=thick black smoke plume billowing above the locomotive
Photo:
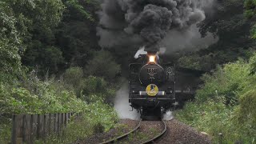
[[[158,51],[168,31],[184,30],[205,19],[203,8],[214,0],[103,0],[98,12],[103,48],[146,46]]]

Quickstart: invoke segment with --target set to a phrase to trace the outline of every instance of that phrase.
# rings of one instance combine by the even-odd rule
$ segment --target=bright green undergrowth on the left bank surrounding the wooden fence
[[[72,72],[66,75],[68,74],[72,75]],[[66,128],[65,137],[57,138],[53,135],[47,140],[48,143],[70,143],[79,138],[87,138],[94,130],[97,132],[110,130],[118,122],[118,116],[114,108],[106,104],[105,98],[107,94],[113,94],[111,96],[114,97],[114,89],[106,88],[108,85],[103,78],[89,77],[86,78],[85,84],[85,90],[90,92],[90,97],[86,95],[83,98],[91,98],[90,103],[77,98],[74,89],[67,90],[64,82],[54,78],[41,81],[34,72],[25,75],[15,84],[0,82],[0,114],[86,112],[83,120],[70,123]],[[98,126],[98,123],[101,123],[101,126]],[[0,143],[9,142],[10,125],[10,122],[2,123],[1,120]],[[38,143],[45,142],[38,141]]]

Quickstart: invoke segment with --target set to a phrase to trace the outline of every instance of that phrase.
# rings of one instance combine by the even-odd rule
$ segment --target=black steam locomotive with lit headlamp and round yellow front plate
[[[180,77],[182,72],[178,75]],[[174,64],[161,63],[155,53],[140,55],[137,62],[129,66],[130,106],[141,113],[141,118],[161,118],[166,110],[194,98],[193,85],[185,82],[178,83],[177,87],[176,78]],[[185,78],[184,75],[182,78]]]

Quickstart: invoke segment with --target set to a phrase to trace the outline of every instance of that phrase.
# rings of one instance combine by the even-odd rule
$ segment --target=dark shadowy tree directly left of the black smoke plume
[[[94,50],[101,50],[96,36],[99,3],[95,0],[62,0],[66,6],[62,22],[57,28],[56,45],[66,59],[67,66],[85,66]]]

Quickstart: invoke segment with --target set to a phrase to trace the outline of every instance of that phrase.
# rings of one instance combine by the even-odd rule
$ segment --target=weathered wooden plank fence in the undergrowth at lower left
[[[65,114],[21,114],[12,117],[12,144],[31,144],[36,139],[46,138],[49,134],[62,134],[70,118],[78,118],[81,113]]]

